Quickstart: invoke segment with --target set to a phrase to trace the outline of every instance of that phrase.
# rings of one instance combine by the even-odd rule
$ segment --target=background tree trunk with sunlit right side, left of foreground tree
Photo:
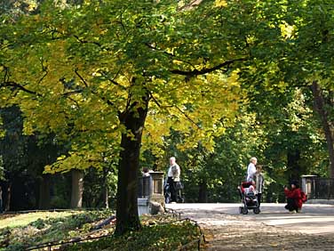
[[[83,171],[72,169],[71,208],[83,206]]]

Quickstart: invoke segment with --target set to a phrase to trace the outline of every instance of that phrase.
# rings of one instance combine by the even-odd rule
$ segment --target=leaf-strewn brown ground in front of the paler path
[[[206,250],[334,250],[332,234],[305,234],[249,222],[242,216],[223,217],[225,223],[219,225],[201,224]]]

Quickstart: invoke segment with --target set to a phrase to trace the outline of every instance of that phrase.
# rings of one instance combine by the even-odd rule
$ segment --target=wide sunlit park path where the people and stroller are
[[[334,250],[334,206],[304,205],[289,214],[284,204],[262,204],[240,215],[239,204],[169,204],[203,228],[207,250]]]

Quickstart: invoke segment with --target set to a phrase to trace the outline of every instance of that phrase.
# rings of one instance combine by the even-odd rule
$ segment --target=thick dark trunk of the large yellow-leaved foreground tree
[[[139,152],[141,136],[147,117],[148,96],[142,102],[133,102],[120,115],[120,121],[127,132],[122,134],[120,160],[118,165],[116,235],[140,229],[138,215]]]

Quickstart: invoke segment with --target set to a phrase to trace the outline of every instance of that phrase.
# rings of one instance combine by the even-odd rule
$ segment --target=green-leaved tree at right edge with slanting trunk
[[[272,36],[273,32],[257,32],[250,45],[254,45],[253,41],[261,45],[251,50],[252,59],[256,61],[249,70],[244,69],[242,72],[250,73],[251,69],[255,83],[259,85],[262,82],[268,91],[288,90],[291,93],[300,88],[308,95],[309,90],[312,90],[314,111],[320,115],[319,125],[322,125],[327,140],[329,170],[333,170],[333,126],[330,122],[333,112],[333,85],[330,84],[333,36],[329,32],[334,21],[332,4],[327,0],[292,1],[285,4],[267,1],[266,4],[268,8],[265,15],[269,17],[266,23],[270,30],[280,36]],[[279,6],[281,12],[273,12],[273,6]],[[268,36],[273,39],[268,39]]]

